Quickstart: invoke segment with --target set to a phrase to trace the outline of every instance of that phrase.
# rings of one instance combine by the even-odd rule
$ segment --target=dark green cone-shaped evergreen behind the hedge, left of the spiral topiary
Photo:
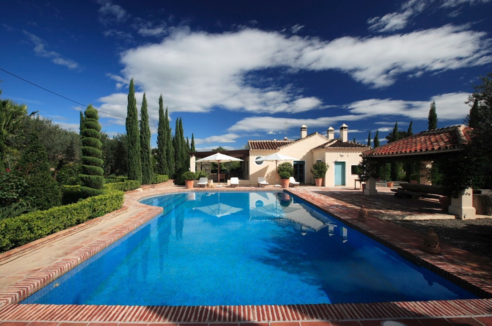
[[[36,133],[28,136],[27,147],[18,163],[18,172],[26,180],[25,200],[31,206],[47,210],[62,203],[60,185],[51,176],[48,153]]]

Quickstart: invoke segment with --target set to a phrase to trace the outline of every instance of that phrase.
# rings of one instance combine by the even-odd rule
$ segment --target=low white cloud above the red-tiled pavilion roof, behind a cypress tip
[[[463,119],[470,108],[464,104],[468,93],[447,93],[433,96],[429,101],[403,101],[393,99],[369,99],[353,102],[350,113],[368,115],[403,115],[412,119],[427,119],[432,101],[436,103],[439,120]],[[393,122],[394,123],[394,122]],[[382,124],[382,123],[378,123]],[[390,124],[384,123],[384,124]]]

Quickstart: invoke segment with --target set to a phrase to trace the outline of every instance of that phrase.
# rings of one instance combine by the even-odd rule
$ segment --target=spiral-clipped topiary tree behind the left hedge
[[[97,110],[89,105],[86,109],[84,118],[84,129],[82,130],[82,180],[84,187],[92,189],[101,189],[104,184],[102,176],[103,161],[100,159],[101,151],[101,126],[99,125],[99,116]]]

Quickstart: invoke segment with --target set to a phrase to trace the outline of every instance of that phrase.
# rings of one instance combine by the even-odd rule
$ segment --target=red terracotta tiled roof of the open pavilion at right
[[[473,128],[464,125],[423,131],[362,153],[362,157],[437,154],[461,150],[470,141]]]

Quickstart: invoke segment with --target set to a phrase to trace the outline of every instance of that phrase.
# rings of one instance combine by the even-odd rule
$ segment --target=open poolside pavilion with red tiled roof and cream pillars
[[[443,155],[452,155],[453,152],[461,151],[463,145],[466,145],[471,140],[471,130],[472,128],[464,125],[427,130],[370,149],[362,153],[361,156],[370,160],[386,161],[391,161],[392,159],[417,159],[421,161],[420,175],[425,175],[426,166],[432,161],[438,160]],[[425,176],[420,177],[420,183],[428,184]],[[364,194],[377,194],[376,180],[374,178],[369,178],[366,182]],[[458,198],[451,198],[449,213],[457,215],[459,218],[472,218],[475,216],[471,188],[464,190]]]

